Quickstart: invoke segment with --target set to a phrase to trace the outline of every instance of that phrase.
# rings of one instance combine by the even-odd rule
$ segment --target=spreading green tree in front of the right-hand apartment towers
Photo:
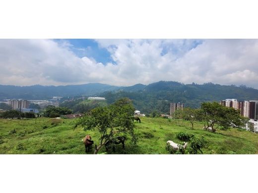
[[[202,121],[205,121],[204,127],[211,127],[213,132],[218,126],[225,129],[245,126],[245,118],[240,115],[239,110],[220,105],[218,102],[203,102],[199,115]],[[216,128],[214,128],[215,124],[217,124]]]

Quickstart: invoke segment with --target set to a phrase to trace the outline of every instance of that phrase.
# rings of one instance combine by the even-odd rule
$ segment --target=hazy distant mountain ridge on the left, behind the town
[[[54,96],[79,96],[79,95],[96,95],[105,91],[114,91],[120,87],[89,83],[84,85],[68,85],[68,86],[5,86],[0,85],[0,100],[10,98],[24,99],[49,99]]]

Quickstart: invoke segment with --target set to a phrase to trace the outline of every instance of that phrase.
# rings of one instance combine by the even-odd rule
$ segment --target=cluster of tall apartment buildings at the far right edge
[[[242,116],[250,118],[246,129],[258,132],[258,100],[237,101],[237,99],[232,98],[221,100],[220,104],[240,110]]]

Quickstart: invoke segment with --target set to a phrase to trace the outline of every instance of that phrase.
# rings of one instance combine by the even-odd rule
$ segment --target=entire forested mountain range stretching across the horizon
[[[197,108],[204,101],[218,101],[226,98],[258,100],[258,90],[246,86],[225,86],[213,83],[183,84],[174,81],[159,81],[149,85],[136,84],[117,87],[100,83],[69,86],[4,86],[0,85],[0,100],[10,98],[50,99],[54,96],[98,96],[106,97],[112,103],[120,97],[129,97],[134,106],[143,112],[153,109],[168,112],[170,102],[184,102]]]

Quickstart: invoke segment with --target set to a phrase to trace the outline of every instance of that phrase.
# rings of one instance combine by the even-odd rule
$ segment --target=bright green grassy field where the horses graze
[[[36,123],[35,119],[0,119],[0,154],[85,154],[82,139],[86,134],[91,135],[95,144],[99,143],[97,132],[85,132],[82,128],[73,130],[73,125],[74,119],[38,118]],[[172,140],[182,144],[176,134],[184,131],[195,137],[205,137],[204,154],[258,154],[258,134],[233,128],[211,133],[203,131],[202,126],[196,122],[191,129],[188,121],[141,118],[141,123],[135,123],[137,145],[128,137],[125,149],[119,144],[115,145],[116,152],[107,153],[167,154],[166,142]],[[103,152],[106,152],[105,147],[99,151]]]

